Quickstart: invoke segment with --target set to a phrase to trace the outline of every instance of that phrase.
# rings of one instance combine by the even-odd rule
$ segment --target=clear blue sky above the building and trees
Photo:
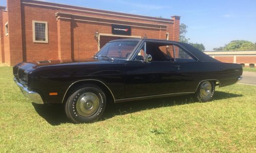
[[[44,0],[45,1],[45,0]],[[224,46],[231,40],[256,42],[255,0],[46,0],[47,2],[88,7],[101,10],[131,13],[153,17],[181,16],[188,26],[189,42],[202,43],[205,50]],[[6,0],[0,1],[6,6]]]

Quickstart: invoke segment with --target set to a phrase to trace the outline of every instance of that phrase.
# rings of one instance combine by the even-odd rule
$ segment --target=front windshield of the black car
[[[139,41],[114,41],[99,50],[96,57],[127,60]]]

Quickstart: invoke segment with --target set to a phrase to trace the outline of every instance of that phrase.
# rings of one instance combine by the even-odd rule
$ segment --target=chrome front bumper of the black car
[[[17,82],[17,80],[14,78],[14,82],[18,85],[20,91],[24,94],[25,97],[29,98],[33,103],[36,104],[44,104],[44,101],[42,101],[42,98],[40,94],[34,91],[29,91],[27,87],[25,87],[23,84]]]

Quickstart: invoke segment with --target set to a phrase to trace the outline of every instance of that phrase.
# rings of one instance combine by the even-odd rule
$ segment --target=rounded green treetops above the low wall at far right
[[[256,43],[246,40],[233,40],[224,47],[214,48],[214,50],[256,50]]]

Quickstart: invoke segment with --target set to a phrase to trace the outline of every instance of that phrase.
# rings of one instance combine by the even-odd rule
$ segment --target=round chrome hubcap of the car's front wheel
[[[92,92],[79,96],[76,104],[77,112],[84,117],[92,116],[99,108],[99,98]]]

